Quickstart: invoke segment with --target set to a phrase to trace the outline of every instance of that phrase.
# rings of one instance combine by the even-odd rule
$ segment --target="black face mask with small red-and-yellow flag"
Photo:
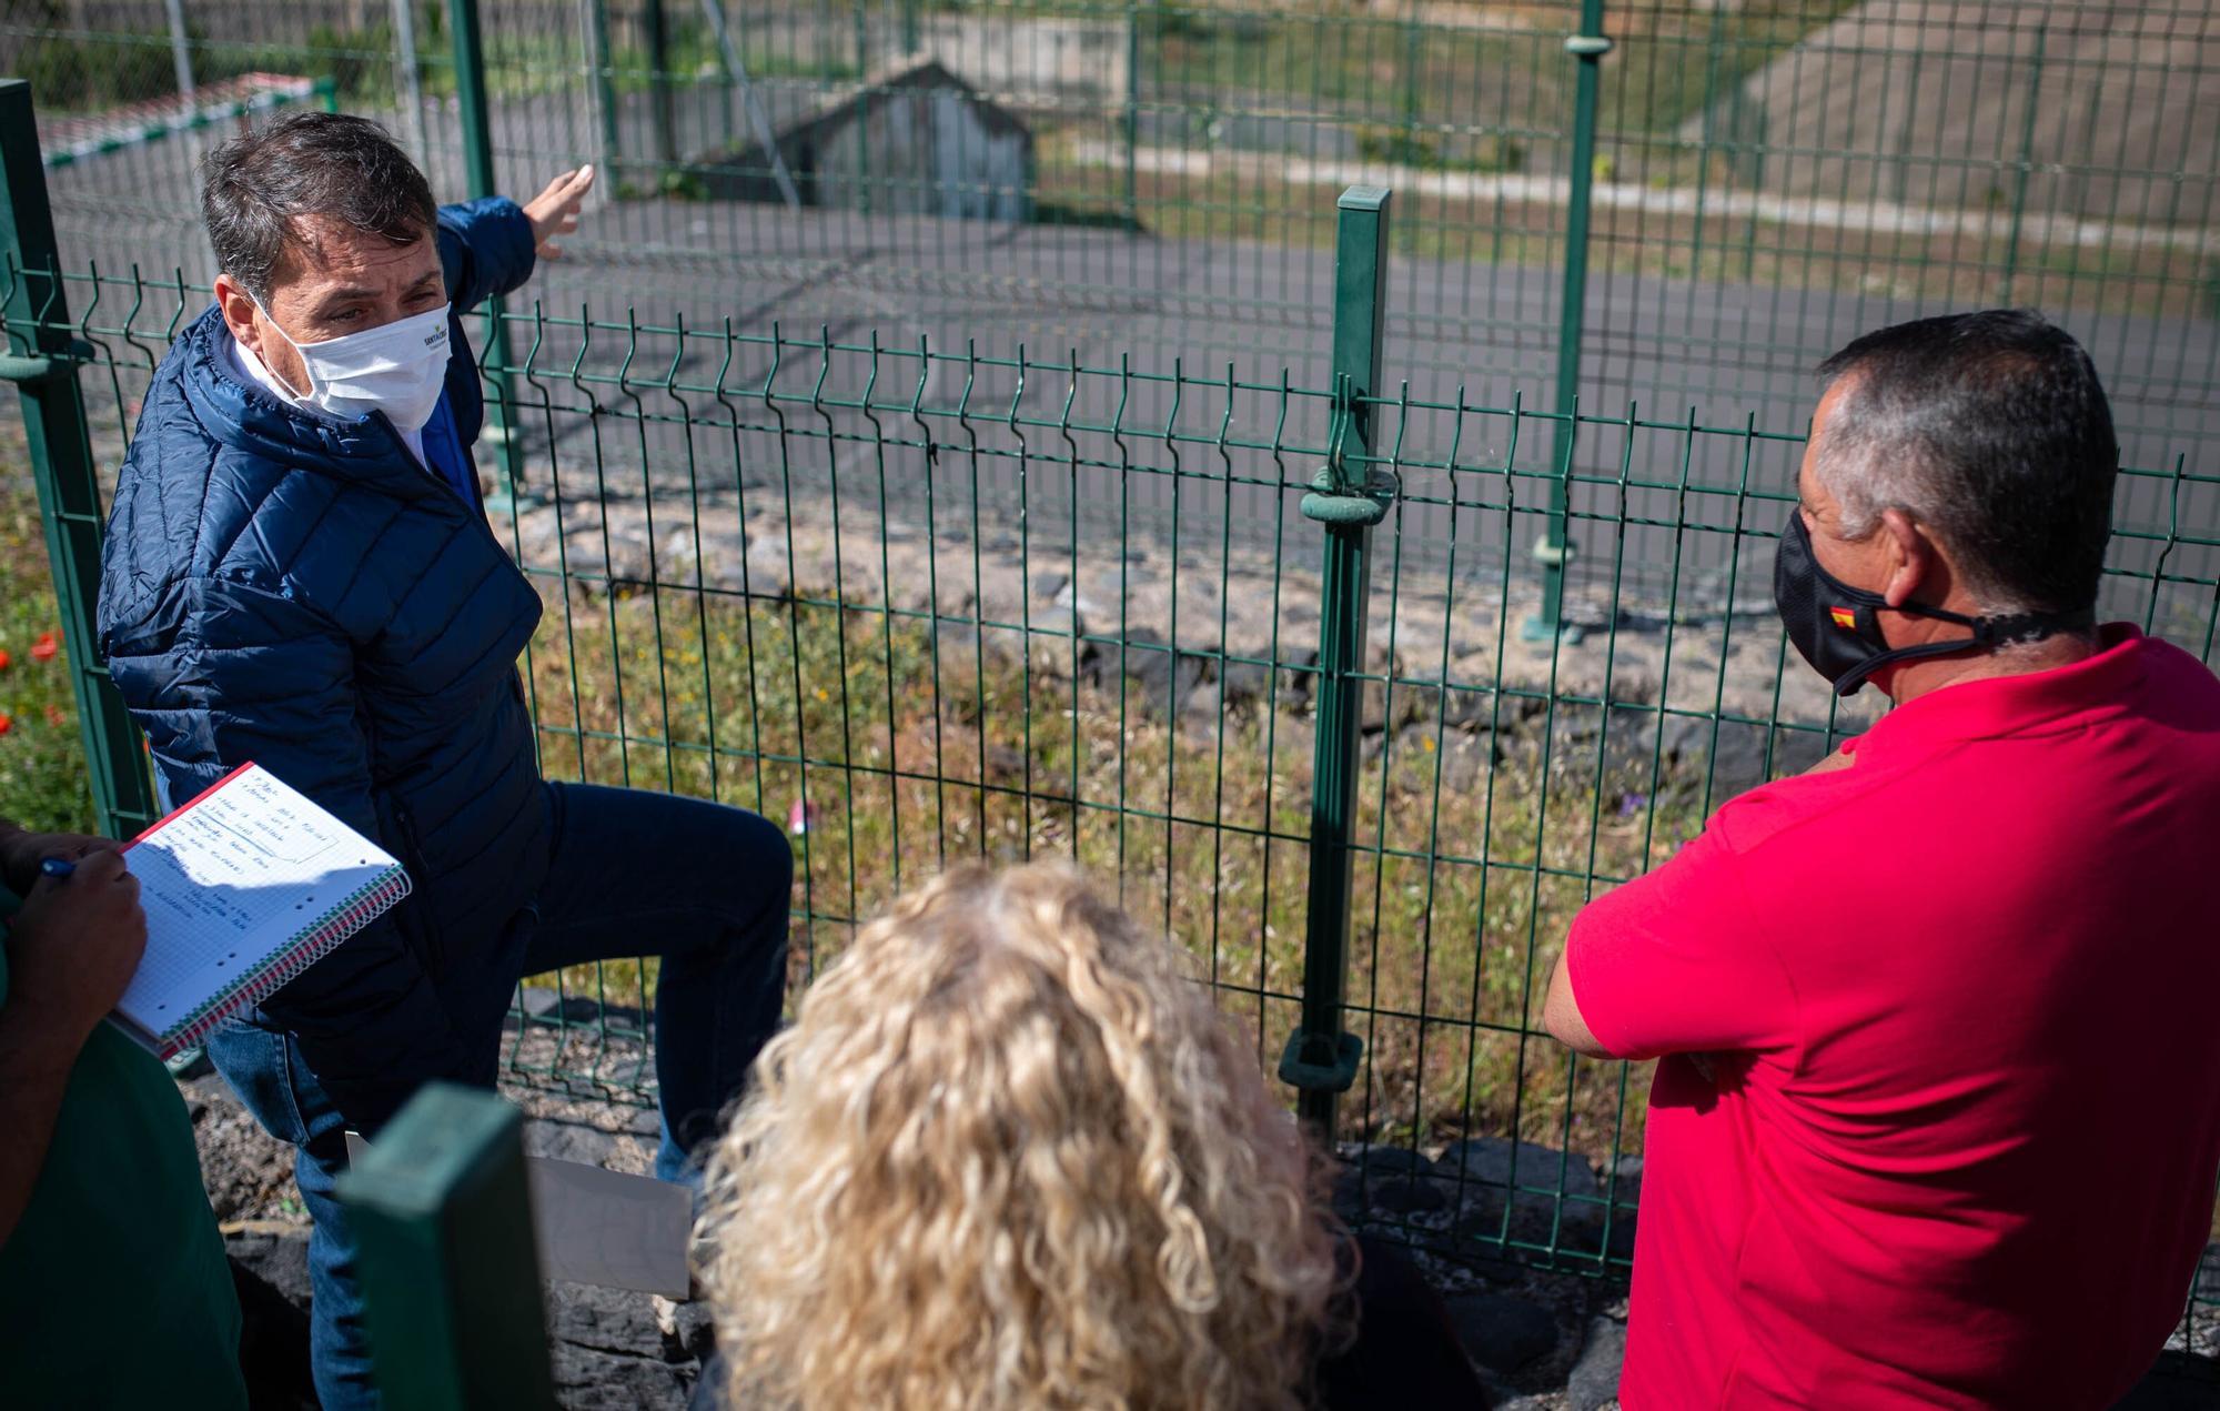
[[[1812,530],[1800,510],[1789,510],[1780,530],[1780,552],[1774,559],[1774,603],[1787,623],[1789,641],[1812,670],[1834,681],[1836,694],[1856,694],[1865,679],[1883,666],[1918,657],[1951,657],[1956,652],[1991,650],[2007,641],[2036,641],[2054,632],[2087,632],[2096,626],[2096,608],[2073,612],[2020,612],[2014,617],[1965,617],[1925,603],[1889,608],[1878,592],[1851,588],[1818,566],[1812,552]],[[1936,617],[1974,630],[1971,637],[1891,648],[1880,635],[1883,612]]]

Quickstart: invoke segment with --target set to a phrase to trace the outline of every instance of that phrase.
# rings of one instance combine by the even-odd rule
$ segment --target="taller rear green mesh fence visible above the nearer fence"
[[[189,75],[198,109],[324,82],[442,193],[471,189],[446,0],[42,2],[0,18],[0,69],[31,73],[53,151],[120,106],[175,109]],[[551,306],[1261,359],[1328,386],[1328,197],[1379,182],[1403,206],[1388,333],[1419,397],[1796,433],[1809,366],[1856,333],[2031,302],[2105,366],[2129,461],[2220,435],[2209,7],[473,9],[488,184],[604,171],[542,275]],[[915,84],[939,115],[904,106]],[[899,113],[930,151],[890,138]],[[71,255],[206,280],[189,162],[209,135],[58,169]],[[2162,532],[2169,504],[2120,512]],[[1563,539],[1563,519],[1541,535],[1550,586],[1607,590],[1607,559]]]

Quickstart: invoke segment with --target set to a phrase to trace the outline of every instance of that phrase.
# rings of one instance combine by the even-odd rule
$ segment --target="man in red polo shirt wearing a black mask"
[[[1621,1395],[2100,1409],[2220,1167],[2220,681],[2093,623],[2118,446],[2029,313],[1832,357],[1789,639],[1896,710],[1590,903],[1574,1049],[1661,1058]]]

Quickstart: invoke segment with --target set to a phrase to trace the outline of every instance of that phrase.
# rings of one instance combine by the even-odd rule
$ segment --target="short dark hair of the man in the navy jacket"
[[[278,262],[300,246],[302,215],[411,244],[440,209],[408,153],[369,118],[289,113],[202,158],[200,217],[215,262],[264,304]]]

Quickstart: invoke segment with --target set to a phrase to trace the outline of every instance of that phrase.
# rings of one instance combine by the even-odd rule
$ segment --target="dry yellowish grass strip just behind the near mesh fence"
[[[1188,947],[1272,1067],[1303,974],[1308,714],[1219,712],[1203,681],[1170,717],[1108,652],[1074,686],[1068,637],[664,590],[551,601],[531,683],[551,776],[806,810],[797,985],[952,861],[1061,854]],[[1541,994],[1590,879],[1643,872],[1696,805],[1652,810],[1647,761],[1598,783],[1578,752],[1496,754],[1421,719],[1361,765],[1348,1027],[1370,1060],[1343,1134],[1638,1149],[1647,1083],[1574,1065],[1536,1032]],[[602,992],[639,1003],[648,976],[617,963]],[[566,983],[595,992],[591,970]]]

